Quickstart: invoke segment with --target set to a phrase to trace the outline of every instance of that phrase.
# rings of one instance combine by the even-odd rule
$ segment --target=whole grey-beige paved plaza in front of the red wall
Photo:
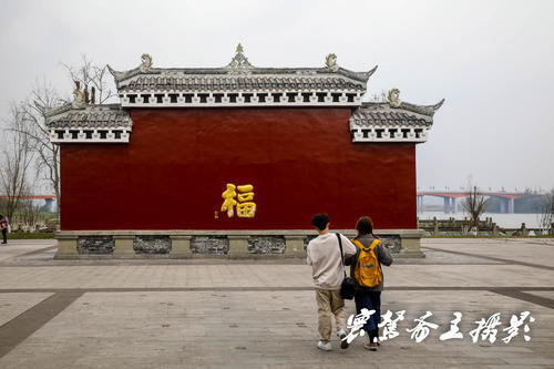
[[[384,269],[383,312],[406,319],[377,352],[365,337],[348,350],[338,340],[330,352],[316,348],[304,259],[54,260],[55,243],[0,247],[2,369],[554,368],[552,238],[423,239],[424,259]],[[418,344],[407,329],[427,311],[438,328]],[[440,340],[455,311],[463,338]],[[522,311],[534,322],[505,344]],[[475,321],[495,312],[496,341],[473,342]]]

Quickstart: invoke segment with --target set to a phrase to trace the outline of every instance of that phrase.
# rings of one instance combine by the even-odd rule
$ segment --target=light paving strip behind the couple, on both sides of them
[[[552,287],[554,270],[519,265],[392,265],[384,268],[384,279],[388,287]],[[308,265],[0,267],[0,289],[311,286]]]

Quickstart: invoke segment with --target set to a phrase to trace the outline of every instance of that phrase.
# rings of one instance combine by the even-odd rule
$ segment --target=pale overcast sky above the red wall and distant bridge
[[[418,145],[420,189],[554,187],[554,1],[13,1],[0,11],[0,116],[37,81],[70,95],[61,63],[116,70],[379,64],[369,93],[444,105]],[[2,132],[3,134],[3,132]],[[390,180],[390,178],[389,178]]]

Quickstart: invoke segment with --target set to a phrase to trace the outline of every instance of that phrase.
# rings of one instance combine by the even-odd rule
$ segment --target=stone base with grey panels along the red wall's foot
[[[351,238],[352,229],[332,229]],[[421,229],[381,229],[376,235],[396,257],[424,257]],[[57,259],[306,257],[315,230],[60,230]]]

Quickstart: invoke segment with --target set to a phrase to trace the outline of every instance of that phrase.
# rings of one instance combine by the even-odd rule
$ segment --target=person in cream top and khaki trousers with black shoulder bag
[[[340,285],[345,278],[342,258],[338,237],[342,242],[345,258],[356,255],[356,246],[342,235],[329,234],[329,216],[316,214],[311,219],[319,236],[309,242],[306,249],[307,262],[311,265],[314,284],[316,286],[316,301],[318,312],[319,341],[317,347],[321,350],[331,350],[331,316],[335,316],[337,336],[340,338],[340,347],[348,348],[348,342],[342,340],[346,336],[346,311],[345,301],[340,297]]]

